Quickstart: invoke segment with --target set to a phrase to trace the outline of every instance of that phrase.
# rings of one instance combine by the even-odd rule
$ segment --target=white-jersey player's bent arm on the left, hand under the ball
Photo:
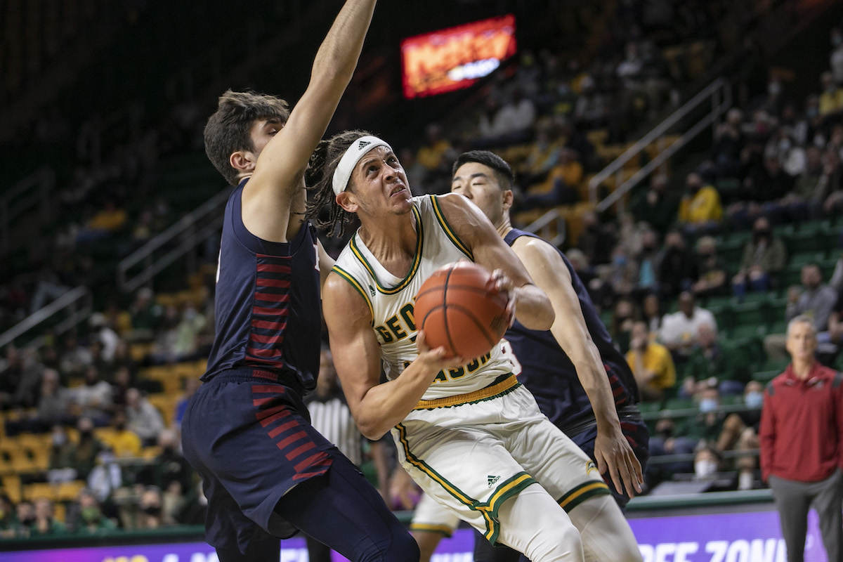
[[[400,377],[380,383],[380,345],[372,329],[367,302],[349,281],[331,273],[322,292],[330,351],[357,428],[368,439],[379,439],[404,420],[442,369],[466,360],[445,357],[444,348],[421,349]],[[380,383],[380,384],[379,384]]]

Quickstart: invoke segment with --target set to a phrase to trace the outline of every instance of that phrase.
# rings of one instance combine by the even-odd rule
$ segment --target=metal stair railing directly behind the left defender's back
[[[153,280],[167,266],[187,256],[188,270],[195,268],[193,250],[208,237],[217,235],[223,225],[223,211],[231,190],[213,195],[194,211],[182,217],[163,233],[149,240],[117,264],[117,286],[132,292]],[[137,270],[137,267],[140,270]],[[136,270],[132,272],[132,270]]]

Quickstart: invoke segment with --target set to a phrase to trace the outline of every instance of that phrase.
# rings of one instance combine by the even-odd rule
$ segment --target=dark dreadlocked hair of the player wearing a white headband
[[[334,171],[352,142],[371,134],[359,129],[342,131],[328,140],[319,141],[314,153],[310,155],[308,167],[304,171],[304,184],[311,195],[305,215],[329,237],[342,238],[346,224],[354,218],[354,213],[346,211],[336,202]],[[352,190],[351,185],[348,190]]]

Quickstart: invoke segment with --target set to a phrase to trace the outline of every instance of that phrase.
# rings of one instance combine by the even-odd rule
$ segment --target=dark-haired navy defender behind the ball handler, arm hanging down
[[[641,491],[642,464],[649,457],[647,426],[635,406],[635,378],[565,254],[511,226],[512,185],[512,169],[493,153],[471,151],[454,163],[451,190],[480,207],[556,310],[550,330],[527,329],[516,320],[504,335],[520,363],[518,380],[542,413],[598,463],[600,473],[615,484],[615,500],[626,506]],[[423,531],[424,524],[431,522],[414,528],[416,538],[435,541]],[[518,553],[491,549],[481,538],[475,543],[475,560],[518,559]]]

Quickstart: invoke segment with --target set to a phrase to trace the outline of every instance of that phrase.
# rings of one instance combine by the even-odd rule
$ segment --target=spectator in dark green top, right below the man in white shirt
[[[714,326],[703,322],[697,328],[696,344],[688,357],[685,372],[695,382],[715,378],[721,395],[727,396],[744,392],[749,365],[742,355],[721,345]]]

